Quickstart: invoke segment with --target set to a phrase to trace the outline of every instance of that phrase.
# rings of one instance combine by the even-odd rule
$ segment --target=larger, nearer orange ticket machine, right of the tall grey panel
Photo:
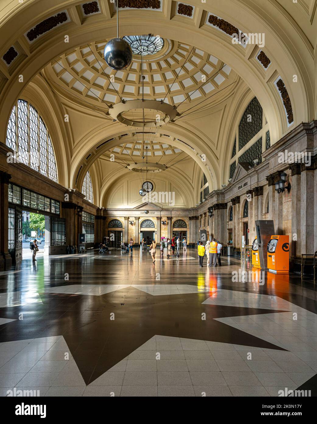
[[[275,274],[288,274],[289,236],[271,236],[267,244],[267,268]]]

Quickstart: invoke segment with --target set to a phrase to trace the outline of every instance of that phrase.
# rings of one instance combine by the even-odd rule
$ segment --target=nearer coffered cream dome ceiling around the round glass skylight
[[[136,36],[126,38],[132,37],[131,42],[135,42]],[[146,99],[164,99],[184,111],[225,91],[239,79],[228,65],[202,50],[177,41],[159,40],[163,47],[154,49],[153,54],[147,53],[142,60]],[[115,71],[103,58],[106,43],[103,40],[77,47],[44,68],[44,75],[55,89],[66,89],[102,110],[121,99],[141,98],[141,56],[133,54],[126,70]]]

